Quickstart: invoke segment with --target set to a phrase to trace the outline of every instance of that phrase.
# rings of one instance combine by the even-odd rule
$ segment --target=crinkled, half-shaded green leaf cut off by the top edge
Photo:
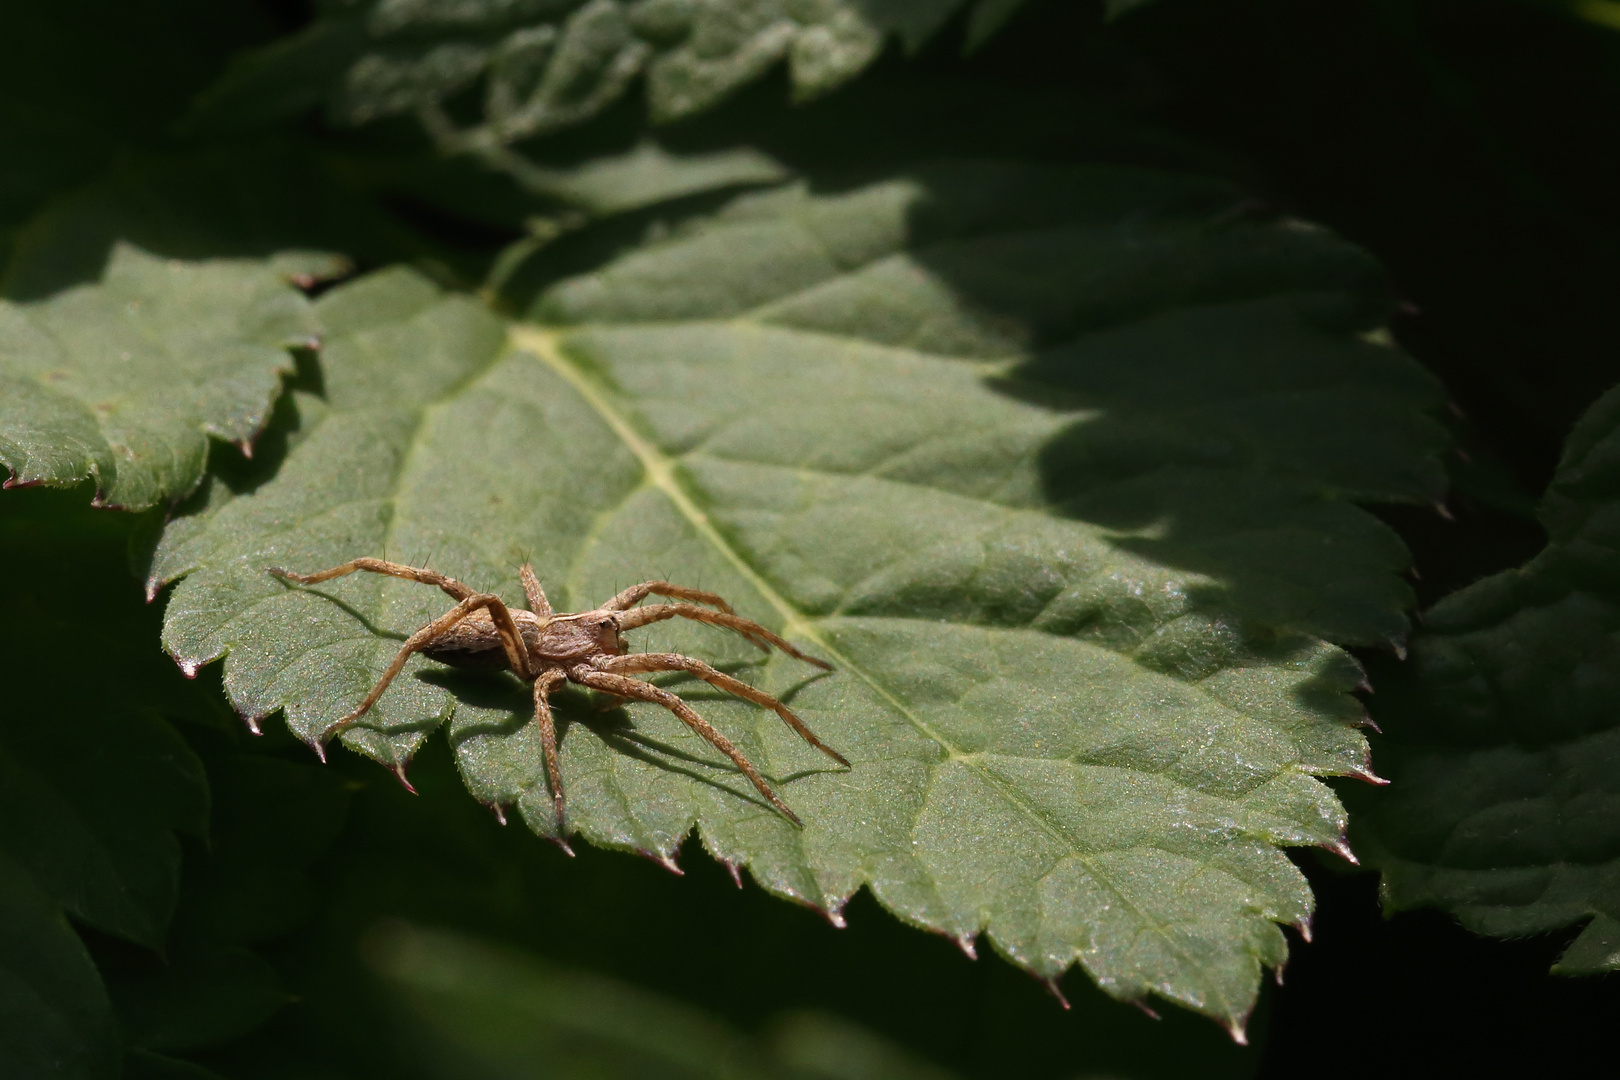
[[[654,120],[710,108],[778,63],[795,96],[859,74],[894,34],[915,50],[962,0],[528,0],[332,5],[296,37],[240,58],[191,123],[219,130],[322,99],[340,123],[415,113],[481,84],[480,139],[512,142],[598,115],[646,78]],[[977,37],[1006,18],[980,18]],[[975,39],[977,39],[975,37]]]

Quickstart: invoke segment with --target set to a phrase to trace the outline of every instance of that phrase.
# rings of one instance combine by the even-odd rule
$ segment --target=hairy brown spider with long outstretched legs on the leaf
[[[475,593],[455,578],[447,578],[436,570],[418,570],[416,567],[405,567],[381,559],[355,559],[345,562],[342,567],[332,567],[319,573],[293,573],[280,567],[269,568],[275,576],[296,581],[298,585],[318,585],[356,570],[387,573],[395,578],[421,581],[423,585],[436,585],[460,602],[405,640],[405,646],[399,651],[399,656],[382,672],[382,678],[377,680],[377,685],[371,688],[371,693],[366,695],[360,706],[321,732],[316,740],[316,750],[321,750],[330,738],[353,727],[377,703],[382,691],[389,688],[394,677],[405,667],[405,661],[410,659],[411,653],[421,653],[429,659],[450,664],[452,667],[509,667],[518,678],[533,683],[535,725],[539,729],[539,745],[544,748],[546,779],[551,780],[551,800],[557,811],[559,836],[565,836],[562,827],[562,772],[557,767],[557,727],[551,719],[551,703],[548,698],[552,690],[565,682],[590,687],[614,698],[651,701],[653,704],[664,706],[680,717],[687,727],[710,740],[716,750],[731,758],[742,769],[744,776],[753,782],[760,795],[765,795],[794,824],[804,823],[799,821],[799,814],[787,808],[787,803],[778,798],[771,785],[760,776],[760,771],[753,767],[753,763],[729,738],[714,730],[708,721],[693,712],[676,695],[640,678],[630,678],[629,675],[642,672],[690,672],[745,701],[774,709],[787,727],[799,732],[807,743],[846,769],[850,767],[849,761],[816,738],[815,732],[792,714],[792,709],[763,690],[755,690],[745,682],[714,670],[703,661],[695,661],[679,653],[638,653],[625,656],[624,638],[620,636],[625,630],[680,617],[735,630],[761,649],[768,651],[774,644],[782,653],[807,664],[815,664],[826,670],[833,669],[826,661],[805,656],[760,623],[742,619],[732,612],[726,601],[713,593],[688,589],[669,581],[643,581],[642,585],[632,585],[596,610],[557,615],[551,610],[551,604],[546,602],[546,593],[539,588],[539,580],[528,563],[523,563],[518,570],[518,576],[523,580],[523,593],[528,596],[528,610],[507,607],[494,593]],[[697,601],[718,610],[708,610],[693,604],[648,604],[646,607],[635,607],[635,604],[653,594],[669,596],[677,601]]]

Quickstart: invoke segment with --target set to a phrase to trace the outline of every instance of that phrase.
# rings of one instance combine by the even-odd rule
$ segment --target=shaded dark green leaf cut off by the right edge
[[[1359,848],[1390,908],[1497,938],[1591,920],[1554,972],[1620,970],[1620,390],[1576,424],[1545,551],[1437,604],[1380,701]],[[1380,682],[1380,698],[1383,696]]]

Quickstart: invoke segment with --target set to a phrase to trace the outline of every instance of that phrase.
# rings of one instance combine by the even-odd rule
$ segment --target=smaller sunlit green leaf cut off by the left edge
[[[209,436],[251,452],[314,343],[288,283],[330,257],[178,262],[120,244],[96,285],[0,301],[0,463],[6,487],[96,483],[96,504],[146,508],[202,478]]]

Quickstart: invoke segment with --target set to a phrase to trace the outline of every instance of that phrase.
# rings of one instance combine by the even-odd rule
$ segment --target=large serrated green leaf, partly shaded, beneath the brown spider
[[[697,653],[794,709],[680,690],[805,819],[770,813],[669,716],[562,701],[570,827],[671,860],[697,826],[778,895],[1079,962],[1234,1033],[1275,923],[1309,916],[1278,845],[1340,847],[1314,776],[1369,776],[1324,636],[1405,630],[1400,542],[1351,499],[1434,499],[1430,381],[1369,334],[1366,256],[1233,214],[1200,180],[944,167],[787,186],[559,282],[507,324],[405,270],[319,301],[326,395],[293,398],[256,489],[177,518],[165,648],[230,654],[253,722],[314,738],[442,597],[358,575],[433,560],[559,609],[666,576],[833,661],[829,677],[697,627]],[[556,836],[507,678],[413,661],[345,743],[400,769],[450,721],[463,777]],[[766,719],[768,717],[768,719]]]

